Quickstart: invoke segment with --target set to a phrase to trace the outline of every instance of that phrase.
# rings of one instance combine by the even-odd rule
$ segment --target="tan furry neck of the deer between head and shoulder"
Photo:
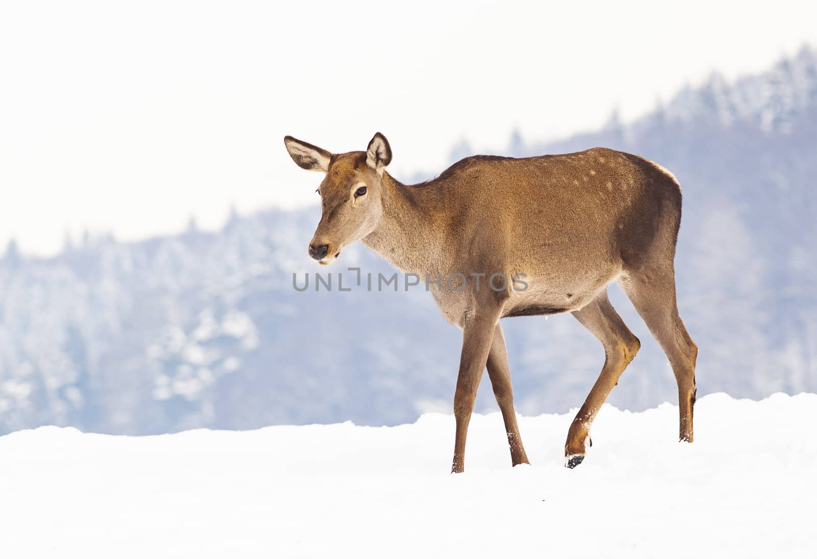
[[[435,272],[439,261],[440,238],[434,231],[439,221],[433,212],[434,186],[406,186],[384,172],[380,223],[364,237],[364,245],[396,268],[421,276]]]

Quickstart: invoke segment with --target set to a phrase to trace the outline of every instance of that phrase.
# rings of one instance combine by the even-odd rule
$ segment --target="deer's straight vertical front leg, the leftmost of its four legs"
[[[460,356],[457,392],[454,393],[454,419],[457,420],[457,435],[454,440],[452,473],[465,468],[465,439],[468,422],[474,410],[476,388],[480,385],[485,362],[491,348],[493,331],[499,320],[498,309],[477,309],[473,317],[462,326],[462,355]]]

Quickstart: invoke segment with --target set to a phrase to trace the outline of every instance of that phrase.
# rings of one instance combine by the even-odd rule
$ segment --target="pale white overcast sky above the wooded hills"
[[[0,3],[0,253],[316,203],[283,135],[442,171],[817,45],[815,2]],[[589,146],[588,146],[589,147]]]

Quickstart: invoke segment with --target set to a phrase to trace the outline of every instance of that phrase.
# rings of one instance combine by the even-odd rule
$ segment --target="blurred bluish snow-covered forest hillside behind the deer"
[[[699,396],[817,392],[817,52],[734,82],[713,74],[635,122],[614,115],[549,143],[514,134],[498,154],[594,146],[659,162],[681,183],[678,302],[699,344]],[[451,162],[472,153],[463,140]],[[191,223],[144,242],[87,237],[49,259],[12,242],[0,258],[0,433],[391,425],[449,411],[460,332],[431,295],[292,288],[293,273],[318,268],[306,255],[318,220],[317,206],[234,215],[217,233]],[[360,244],[332,271],[348,266],[391,273]],[[642,342],[609,403],[676,402],[666,357],[609,291]],[[604,353],[573,317],[503,327],[520,414],[583,402]],[[314,350],[326,338],[330,357]],[[476,410],[493,409],[484,381]]]

